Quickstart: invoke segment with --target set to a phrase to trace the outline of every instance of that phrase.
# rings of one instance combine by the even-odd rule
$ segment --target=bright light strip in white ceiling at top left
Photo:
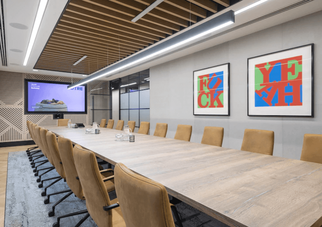
[[[36,18],[35,18],[35,22],[33,23],[33,30],[31,31],[31,36],[29,39],[29,43],[28,43],[28,47],[27,47],[27,51],[26,51],[26,56],[24,57],[24,66],[27,65],[30,54],[31,54],[31,50],[33,49],[33,44],[35,43],[36,40],[36,36],[40,27],[40,23],[43,20],[43,14],[45,13],[45,9],[47,6],[47,2],[48,0],[40,0],[39,6],[38,6],[38,10],[37,10],[37,14],[36,14]]]

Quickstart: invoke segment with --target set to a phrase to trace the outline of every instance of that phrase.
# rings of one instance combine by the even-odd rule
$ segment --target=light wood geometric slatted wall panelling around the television
[[[0,143],[32,140],[26,125],[27,120],[41,127],[57,126],[58,120],[52,119],[52,114],[24,115],[24,79],[71,82],[71,77],[0,71]],[[79,80],[73,78],[72,82]],[[90,92],[97,88],[103,89]],[[109,94],[109,82],[91,81],[88,83],[88,114],[64,114],[64,118],[71,119],[73,123],[90,124],[92,121],[90,93]]]

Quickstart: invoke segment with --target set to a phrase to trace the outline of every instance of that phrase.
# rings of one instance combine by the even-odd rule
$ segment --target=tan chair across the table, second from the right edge
[[[273,155],[274,132],[258,129],[245,129],[242,151]]]

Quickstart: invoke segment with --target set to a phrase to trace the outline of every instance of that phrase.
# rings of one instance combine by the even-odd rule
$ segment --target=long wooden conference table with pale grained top
[[[163,184],[169,195],[229,226],[322,225],[322,164],[122,131],[47,127],[112,164]]]

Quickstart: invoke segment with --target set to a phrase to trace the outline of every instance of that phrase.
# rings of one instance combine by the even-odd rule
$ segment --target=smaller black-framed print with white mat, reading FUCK
[[[229,116],[229,63],[194,71],[194,115]]]

